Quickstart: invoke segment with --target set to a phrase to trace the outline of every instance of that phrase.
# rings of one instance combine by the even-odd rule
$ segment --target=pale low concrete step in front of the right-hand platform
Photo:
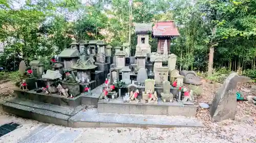
[[[196,118],[163,115],[99,113],[97,109],[79,111],[69,119],[70,127],[203,127]]]

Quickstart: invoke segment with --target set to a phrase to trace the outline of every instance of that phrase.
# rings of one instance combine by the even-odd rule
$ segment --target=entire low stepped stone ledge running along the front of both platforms
[[[68,127],[203,127],[191,117],[99,113],[86,106],[63,107],[18,98],[2,106],[4,111],[19,117]]]

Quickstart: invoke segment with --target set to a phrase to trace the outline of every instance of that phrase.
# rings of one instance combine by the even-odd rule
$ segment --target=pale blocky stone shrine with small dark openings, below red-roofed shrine
[[[160,67],[155,72],[156,84],[161,84],[163,81],[168,80],[168,67]]]

